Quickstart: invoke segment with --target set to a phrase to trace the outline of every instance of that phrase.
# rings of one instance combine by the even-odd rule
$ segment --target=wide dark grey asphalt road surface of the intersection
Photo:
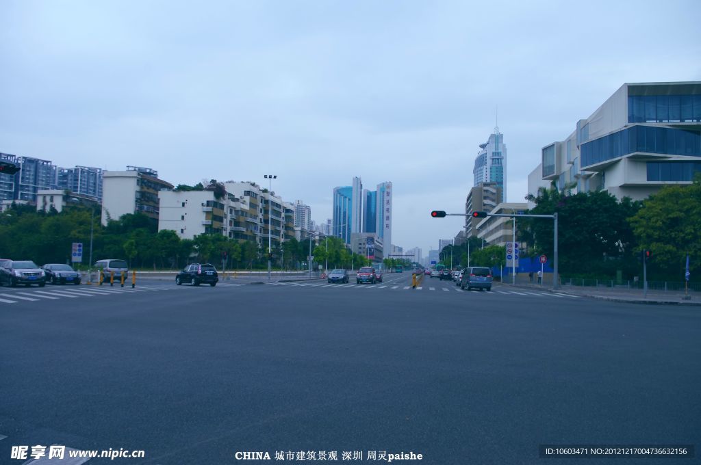
[[[410,279],[0,287],[0,464],[22,464],[13,445],[165,465],[243,451],[532,464],[542,444],[701,444],[697,307]]]

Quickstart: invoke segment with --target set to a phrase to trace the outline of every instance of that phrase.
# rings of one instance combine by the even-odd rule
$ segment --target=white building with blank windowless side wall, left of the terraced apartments
[[[142,213],[158,221],[158,193],[172,190],[155,169],[128,166],[102,173],[102,224],[125,214]]]

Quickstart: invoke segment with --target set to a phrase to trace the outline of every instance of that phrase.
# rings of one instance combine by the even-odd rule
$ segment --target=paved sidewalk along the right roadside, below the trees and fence
[[[514,286],[510,282],[505,281],[504,286]],[[689,292],[690,300],[684,300],[684,293],[679,291],[648,291],[647,298],[644,297],[641,289],[626,289],[626,288],[610,288],[610,287],[594,287],[594,286],[572,286],[565,284],[559,287],[557,291],[552,289],[552,284],[546,283],[543,286],[540,284],[529,284],[517,282],[515,287],[521,289],[538,289],[545,292],[562,292],[569,293],[575,296],[590,297],[602,300],[611,300],[613,302],[641,303],[652,305],[690,305],[701,306],[701,295],[695,292]]]

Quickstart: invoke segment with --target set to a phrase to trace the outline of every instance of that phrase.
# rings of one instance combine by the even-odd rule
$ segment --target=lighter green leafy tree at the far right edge
[[[648,276],[683,279],[686,254],[691,277],[701,272],[701,174],[690,186],[664,186],[629,220],[638,251],[653,252]]]

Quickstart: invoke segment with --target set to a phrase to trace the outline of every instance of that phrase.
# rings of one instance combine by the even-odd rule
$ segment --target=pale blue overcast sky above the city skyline
[[[463,227],[497,124],[508,202],[623,83],[701,81],[701,2],[0,1],[0,152],[174,185],[392,181],[393,243]]]

